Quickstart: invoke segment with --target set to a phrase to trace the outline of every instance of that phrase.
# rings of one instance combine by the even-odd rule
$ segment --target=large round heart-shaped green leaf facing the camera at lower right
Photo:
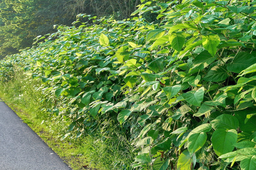
[[[228,131],[224,129],[217,129],[211,137],[214,152],[218,156],[233,151],[235,148],[233,145],[236,143],[236,140],[237,132],[234,129]]]

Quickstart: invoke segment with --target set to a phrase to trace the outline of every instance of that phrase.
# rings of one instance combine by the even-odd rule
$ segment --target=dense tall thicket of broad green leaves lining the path
[[[127,169],[256,169],[256,1],[141,1],[132,15],[160,23],[60,26],[1,80],[13,65],[42,80],[44,110],[71,121],[62,139],[119,124],[140,148]]]

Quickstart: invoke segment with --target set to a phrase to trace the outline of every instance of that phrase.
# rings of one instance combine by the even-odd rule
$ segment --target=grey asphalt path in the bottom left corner
[[[71,170],[4,102],[0,102],[0,169]]]

